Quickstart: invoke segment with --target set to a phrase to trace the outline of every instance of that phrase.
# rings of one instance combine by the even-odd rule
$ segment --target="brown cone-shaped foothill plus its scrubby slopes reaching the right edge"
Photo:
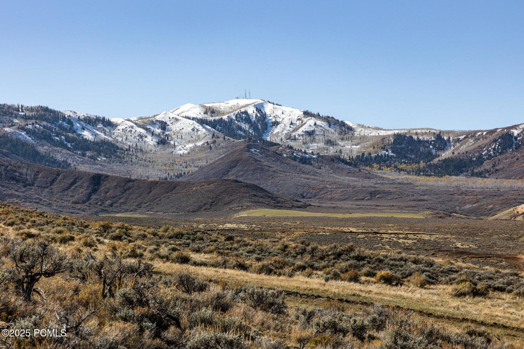
[[[349,211],[363,207],[373,211],[417,208],[443,217],[454,213],[490,217],[524,202],[521,181],[439,179],[363,170],[334,156],[257,143],[244,144],[181,180],[216,178],[238,179],[312,204],[338,205]],[[508,190],[501,195],[500,189]]]

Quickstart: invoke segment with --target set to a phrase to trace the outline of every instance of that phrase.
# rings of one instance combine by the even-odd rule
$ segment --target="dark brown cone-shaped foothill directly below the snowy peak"
[[[182,181],[234,178],[294,198],[319,198],[356,183],[379,178],[327,156],[310,155],[286,147],[268,148],[247,143]],[[360,194],[357,194],[360,195]]]

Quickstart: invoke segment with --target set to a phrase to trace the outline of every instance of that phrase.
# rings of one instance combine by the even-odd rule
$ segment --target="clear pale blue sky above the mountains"
[[[0,5],[1,103],[133,117],[250,88],[385,128],[524,122],[523,1]]]

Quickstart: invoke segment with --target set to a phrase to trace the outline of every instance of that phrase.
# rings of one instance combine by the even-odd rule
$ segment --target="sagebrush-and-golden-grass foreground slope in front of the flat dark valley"
[[[0,327],[66,335],[0,345],[523,347],[518,271],[257,224],[88,222],[1,204]]]

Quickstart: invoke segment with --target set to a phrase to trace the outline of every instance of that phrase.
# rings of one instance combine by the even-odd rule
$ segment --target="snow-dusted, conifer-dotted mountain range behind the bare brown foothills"
[[[354,168],[522,178],[523,132],[524,124],[478,131],[386,130],[263,99],[189,103],[126,119],[0,105],[3,156],[51,167],[163,180],[194,173],[245,142],[334,156]]]

